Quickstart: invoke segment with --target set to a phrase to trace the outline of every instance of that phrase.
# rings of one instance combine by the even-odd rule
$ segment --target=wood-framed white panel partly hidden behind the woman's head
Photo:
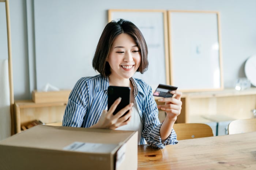
[[[153,90],[158,84],[170,84],[167,11],[109,9],[108,21],[123,18],[133,22],[142,32],[148,46],[148,70],[134,77],[143,79]]]

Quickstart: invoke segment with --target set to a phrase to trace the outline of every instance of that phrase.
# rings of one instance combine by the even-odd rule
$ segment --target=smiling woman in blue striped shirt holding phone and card
[[[133,130],[138,131],[138,144],[157,148],[176,144],[173,124],[181,112],[181,92],[172,91],[174,97],[159,99],[165,104],[157,106],[151,87],[132,77],[147,70],[147,54],[146,41],[133,23],[123,19],[108,23],[93,58],[93,67],[100,74],[78,80],[69,95],[63,126]],[[130,104],[116,115],[113,112],[121,99],[108,110],[110,85],[131,88]],[[166,112],[163,123],[159,122],[158,108]]]

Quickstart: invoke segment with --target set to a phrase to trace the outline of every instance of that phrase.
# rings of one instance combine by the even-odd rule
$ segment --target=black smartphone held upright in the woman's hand
[[[113,115],[116,115],[118,111],[123,109],[125,106],[130,104],[130,91],[129,87],[121,87],[121,86],[109,86],[108,87],[108,109],[111,105],[116,101],[118,97],[121,97],[121,102],[117,105],[116,110],[113,112]],[[129,111],[125,112],[126,115]],[[123,115],[123,116],[124,116]]]

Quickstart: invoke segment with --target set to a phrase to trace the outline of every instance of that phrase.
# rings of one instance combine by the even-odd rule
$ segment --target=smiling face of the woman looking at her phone
[[[112,78],[131,78],[141,62],[139,47],[128,34],[120,34],[114,40],[108,56]]]

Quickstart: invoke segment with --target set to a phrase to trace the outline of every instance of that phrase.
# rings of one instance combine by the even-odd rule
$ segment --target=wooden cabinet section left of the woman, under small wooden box
[[[22,124],[35,119],[43,123],[62,122],[67,103],[34,103],[32,100],[15,101],[15,133],[19,133]]]

